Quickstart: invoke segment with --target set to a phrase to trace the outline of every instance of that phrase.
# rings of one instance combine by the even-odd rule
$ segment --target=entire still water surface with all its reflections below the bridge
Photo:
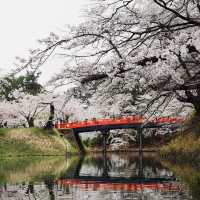
[[[155,154],[1,159],[0,199],[200,200],[200,172]]]

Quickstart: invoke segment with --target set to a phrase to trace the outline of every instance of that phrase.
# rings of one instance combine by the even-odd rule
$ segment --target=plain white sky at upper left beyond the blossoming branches
[[[0,0],[0,68],[11,69],[16,56],[27,54],[37,47],[37,39],[50,32],[64,30],[66,24],[81,21],[81,9],[89,0]],[[48,63],[47,63],[48,64]],[[46,65],[47,65],[46,64]],[[55,67],[56,65],[56,67]],[[50,61],[44,82],[61,67],[61,62]],[[46,68],[47,66],[45,66]]]

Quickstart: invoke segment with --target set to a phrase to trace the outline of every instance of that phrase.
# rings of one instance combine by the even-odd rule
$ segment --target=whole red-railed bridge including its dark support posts
[[[148,120],[141,116],[127,116],[122,118],[113,119],[93,119],[85,120],[81,122],[72,123],[56,123],[55,128],[59,129],[63,134],[66,134],[65,130],[73,130],[73,137],[75,138],[76,145],[80,153],[84,153],[84,147],[79,137],[79,133],[100,131],[103,134],[103,147],[106,152],[106,138],[108,132],[113,129],[135,129],[139,135],[140,151],[142,150],[142,130],[144,128],[160,128],[171,127],[177,128],[184,121],[181,117],[157,117]]]

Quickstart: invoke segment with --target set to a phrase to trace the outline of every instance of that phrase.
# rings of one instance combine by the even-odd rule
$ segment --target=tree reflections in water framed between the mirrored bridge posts
[[[108,154],[106,158],[106,168],[109,176],[124,176],[124,177],[137,177],[143,170],[144,177],[158,177],[161,174],[169,175],[162,167],[159,160],[151,154],[144,154],[142,163],[138,155],[127,154]],[[104,158],[101,155],[94,155],[86,157],[82,163],[81,174],[87,174],[90,171],[91,175],[101,176],[105,166]],[[141,166],[142,165],[142,166]]]

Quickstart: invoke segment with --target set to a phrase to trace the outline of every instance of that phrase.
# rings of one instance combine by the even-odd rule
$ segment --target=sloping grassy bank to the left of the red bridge
[[[0,129],[0,157],[65,154],[65,140],[54,130]]]

